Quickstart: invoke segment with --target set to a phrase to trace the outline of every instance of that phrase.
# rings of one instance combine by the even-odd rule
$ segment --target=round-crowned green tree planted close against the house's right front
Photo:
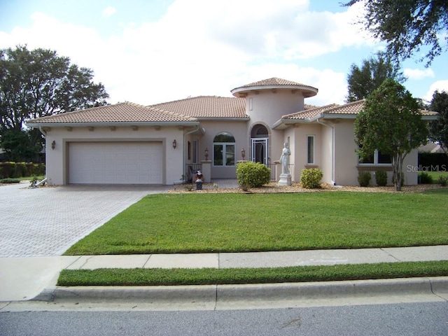
[[[355,141],[361,159],[375,150],[391,155],[393,183],[400,191],[404,182],[403,160],[412,149],[426,143],[428,127],[419,104],[400,83],[386,79],[365,100],[355,120]]]

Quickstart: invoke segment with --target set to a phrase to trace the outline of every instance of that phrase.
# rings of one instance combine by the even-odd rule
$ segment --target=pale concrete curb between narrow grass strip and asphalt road
[[[201,286],[79,286],[43,290],[36,301],[241,302],[380,295],[435,295],[448,301],[448,276]]]

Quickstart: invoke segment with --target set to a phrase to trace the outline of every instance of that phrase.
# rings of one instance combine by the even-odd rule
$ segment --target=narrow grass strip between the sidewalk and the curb
[[[230,269],[64,269],[57,286],[179,286],[446,276],[448,261]]]

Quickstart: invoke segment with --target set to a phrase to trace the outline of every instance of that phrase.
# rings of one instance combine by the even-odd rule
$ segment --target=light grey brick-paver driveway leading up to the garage
[[[0,258],[62,255],[76,241],[165,186],[0,186]]]

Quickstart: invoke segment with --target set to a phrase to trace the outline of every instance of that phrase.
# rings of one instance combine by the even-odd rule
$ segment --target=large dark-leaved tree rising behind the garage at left
[[[28,50],[26,45],[0,50],[0,135],[20,133],[30,118],[105,105],[109,94],[92,78],[91,69],[70,64],[69,57],[53,50]],[[31,148],[39,150],[39,130],[27,134]]]

